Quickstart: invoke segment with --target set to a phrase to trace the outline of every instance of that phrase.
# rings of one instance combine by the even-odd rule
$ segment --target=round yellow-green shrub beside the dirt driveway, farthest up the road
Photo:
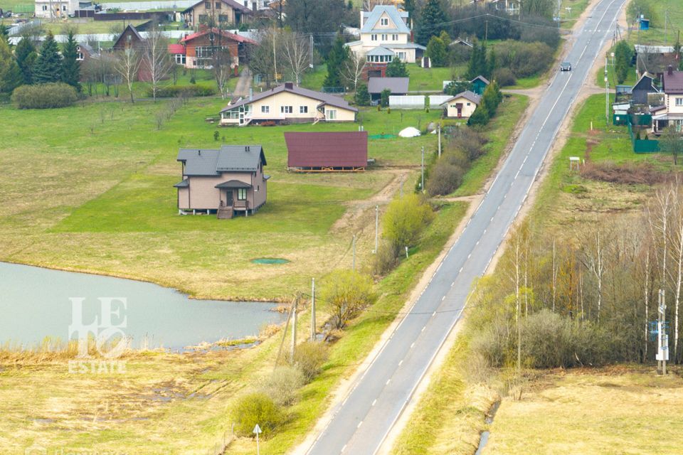
[[[396,250],[410,247],[433,218],[432,208],[423,198],[408,194],[389,203],[382,221],[382,235]]]

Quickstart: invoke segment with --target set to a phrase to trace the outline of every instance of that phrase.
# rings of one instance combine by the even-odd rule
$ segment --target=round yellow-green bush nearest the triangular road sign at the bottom
[[[275,433],[277,427],[285,422],[282,408],[263,392],[252,392],[240,397],[232,412],[235,433],[243,437],[253,437],[256,424],[261,428],[261,437],[267,438]]]

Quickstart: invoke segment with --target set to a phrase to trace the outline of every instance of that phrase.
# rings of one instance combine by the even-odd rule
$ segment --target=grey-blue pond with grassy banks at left
[[[275,306],[193,300],[156,284],[0,262],[0,345],[15,348],[90,331],[125,336],[132,348],[183,350],[257,335],[285,320]]]

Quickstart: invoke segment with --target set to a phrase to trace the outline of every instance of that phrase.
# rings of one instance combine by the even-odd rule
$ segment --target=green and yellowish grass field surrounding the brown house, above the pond
[[[0,259],[144,279],[194,296],[289,299],[310,277],[350,264],[354,234],[359,259],[370,254],[374,226],[360,216],[362,201],[390,182],[398,185],[398,176],[410,172],[399,169],[419,166],[420,147],[435,143],[433,135],[371,140],[370,156],[398,169],[298,175],[286,171],[282,132],[354,131],[358,124],[216,129],[204,119],[216,116],[224,102],[197,99],[157,131],[155,113],[165,103],[85,103],[60,111],[1,107],[0,162],[9,183],[0,190],[0,232],[6,235]],[[369,109],[359,119],[370,134],[389,134],[425,127],[438,115]],[[257,216],[228,222],[178,216],[178,148],[221,142],[263,144],[272,175],[268,203]],[[250,262],[258,257],[292,262]]]

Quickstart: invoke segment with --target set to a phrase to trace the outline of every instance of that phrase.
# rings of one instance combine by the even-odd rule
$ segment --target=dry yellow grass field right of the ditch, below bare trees
[[[503,400],[484,453],[676,454],[682,406],[680,375],[652,367],[549,373]]]

